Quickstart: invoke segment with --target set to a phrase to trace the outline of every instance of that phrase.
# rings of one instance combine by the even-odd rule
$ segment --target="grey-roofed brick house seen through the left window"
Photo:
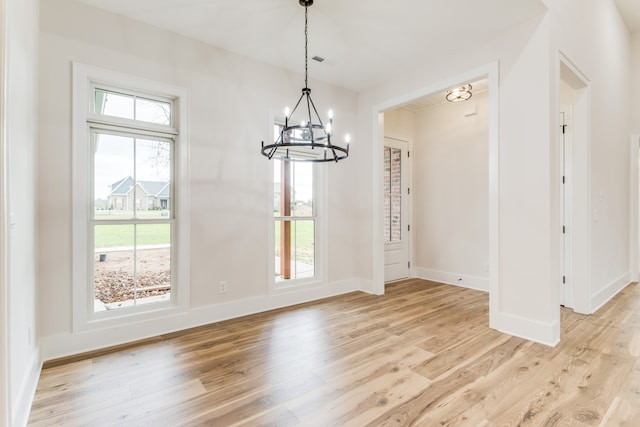
[[[168,181],[137,181],[127,176],[111,184],[108,207],[113,210],[159,210],[170,206]]]

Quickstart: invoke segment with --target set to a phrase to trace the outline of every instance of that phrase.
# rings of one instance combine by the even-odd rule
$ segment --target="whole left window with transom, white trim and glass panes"
[[[75,329],[185,308],[185,103],[182,89],[74,65]]]

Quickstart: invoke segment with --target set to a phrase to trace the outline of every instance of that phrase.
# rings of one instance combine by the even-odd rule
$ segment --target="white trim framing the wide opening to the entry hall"
[[[382,147],[384,147],[384,112],[434,93],[444,92],[461,83],[487,78],[489,81],[489,325],[495,325],[499,313],[500,291],[500,218],[499,218],[499,63],[492,62],[446,80],[409,91],[379,104],[372,111],[373,135],[373,287],[376,295],[383,295],[384,283],[384,209],[382,200]]]

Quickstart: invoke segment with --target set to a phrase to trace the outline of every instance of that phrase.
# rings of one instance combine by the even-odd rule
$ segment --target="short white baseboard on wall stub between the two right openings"
[[[560,321],[543,323],[507,313],[491,313],[489,326],[500,332],[555,347],[560,342]]]

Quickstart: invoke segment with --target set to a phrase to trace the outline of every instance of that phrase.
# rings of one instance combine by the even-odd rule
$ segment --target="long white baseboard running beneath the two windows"
[[[192,308],[185,313],[173,314],[161,319],[141,321],[127,327],[113,327],[95,331],[63,333],[40,340],[42,360],[53,360],[75,354],[99,350],[158,335],[194,328],[250,314],[317,301],[354,291],[371,293],[371,281],[350,279],[332,282],[299,291],[260,295],[220,304]]]

